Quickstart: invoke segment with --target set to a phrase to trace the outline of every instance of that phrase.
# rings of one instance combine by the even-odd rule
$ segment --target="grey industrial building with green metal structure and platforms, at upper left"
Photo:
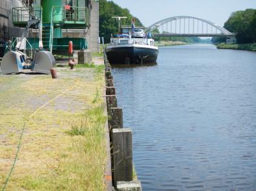
[[[74,50],[99,51],[99,2],[94,0],[1,0],[0,48],[21,36],[31,16],[42,20],[45,50],[62,54],[73,41]],[[27,39],[38,48],[38,30],[31,29]]]

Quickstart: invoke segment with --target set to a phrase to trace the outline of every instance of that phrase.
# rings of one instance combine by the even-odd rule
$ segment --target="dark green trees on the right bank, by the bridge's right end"
[[[256,43],[256,10],[246,9],[233,12],[224,28],[235,32],[237,43]],[[212,43],[225,42],[225,38],[212,38]]]

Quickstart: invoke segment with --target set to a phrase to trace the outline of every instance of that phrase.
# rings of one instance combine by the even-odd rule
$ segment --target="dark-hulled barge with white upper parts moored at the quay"
[[[159,49],[151,33],[143,27],[121,27],[121,34],[111,36],[106,48],[110,63],[156,63]]]

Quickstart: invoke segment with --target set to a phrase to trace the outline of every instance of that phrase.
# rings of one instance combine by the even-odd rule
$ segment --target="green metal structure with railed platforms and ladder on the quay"
[[[63,38],[62,29],[85,29],[90,26],[90,3],[92,0],[34,0],[31,4],[12,8],[14,27],[25,27],[31,16],[42,21],[44,49],[53,54],[68,54],[68,42],[73,41],[74,50],[88,48],[85,38]],[[38,49],[39,38],[27,38]]]

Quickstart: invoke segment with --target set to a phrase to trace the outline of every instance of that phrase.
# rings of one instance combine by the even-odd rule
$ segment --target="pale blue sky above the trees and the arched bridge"
[[[171,16],[195,16],[223,26],[232,12],[256,9],[256,0],[112,0],[149,25]]]

